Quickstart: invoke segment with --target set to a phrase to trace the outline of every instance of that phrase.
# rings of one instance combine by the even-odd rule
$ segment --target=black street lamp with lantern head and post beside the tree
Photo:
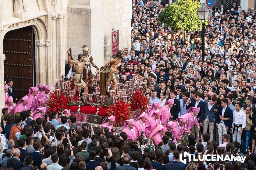
[[[209,15],[209,9],[204,6],[204,3],[202,3],[202,6],[197,10],[197,15],[200,20],[203,20],[202,22],[202,60],[204,62],[204,30],[205,30],[205,23],[204,20],[208,18]]]

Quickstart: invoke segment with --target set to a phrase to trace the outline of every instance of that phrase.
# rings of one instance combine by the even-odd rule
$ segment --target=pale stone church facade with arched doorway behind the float
[[[130,48],[130,22],[130,0],[1,0],[1,108],[4,80],[14,80],[16,94],[26,95],[38,83],[53,87],[65,73],[68,48],[76,60],[83,44],[103,66],[111,54],[112,28],[119,30],[119,49]],[[21,88],[23,82],[29,85]]]

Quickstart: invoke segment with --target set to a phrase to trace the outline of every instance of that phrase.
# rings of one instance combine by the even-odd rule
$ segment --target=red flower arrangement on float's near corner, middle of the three
[[[107,116],[115,116],[115,124],[120,126],[124,121],[131,119],[132,109],[129,104],[123,101],[118,101],[116,104],[112,104],[106,110]]]

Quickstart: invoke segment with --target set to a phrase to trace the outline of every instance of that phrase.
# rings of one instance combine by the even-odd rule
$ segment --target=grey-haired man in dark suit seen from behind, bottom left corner
[[[14,170],[20,170],[23,167],[23,163],[19,159],[20,157],[20,150],[15,148],[12,150],[12,158],[7,160],[7,167],[13,168]]]

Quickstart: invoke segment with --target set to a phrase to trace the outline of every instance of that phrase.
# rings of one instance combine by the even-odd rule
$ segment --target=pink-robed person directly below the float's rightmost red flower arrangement
[[[135,121],[135,124],[134,124],[134,131],[135,131],[135,136],[136,136],[136,139],[141,136],[141,131],[143,131],[143,134],[145,134],[145,129],[146,129],[146,126],[145,126],[145,123],[147,122],[148,120],[148,114],[143,112],[138,118],[137,120]]]

